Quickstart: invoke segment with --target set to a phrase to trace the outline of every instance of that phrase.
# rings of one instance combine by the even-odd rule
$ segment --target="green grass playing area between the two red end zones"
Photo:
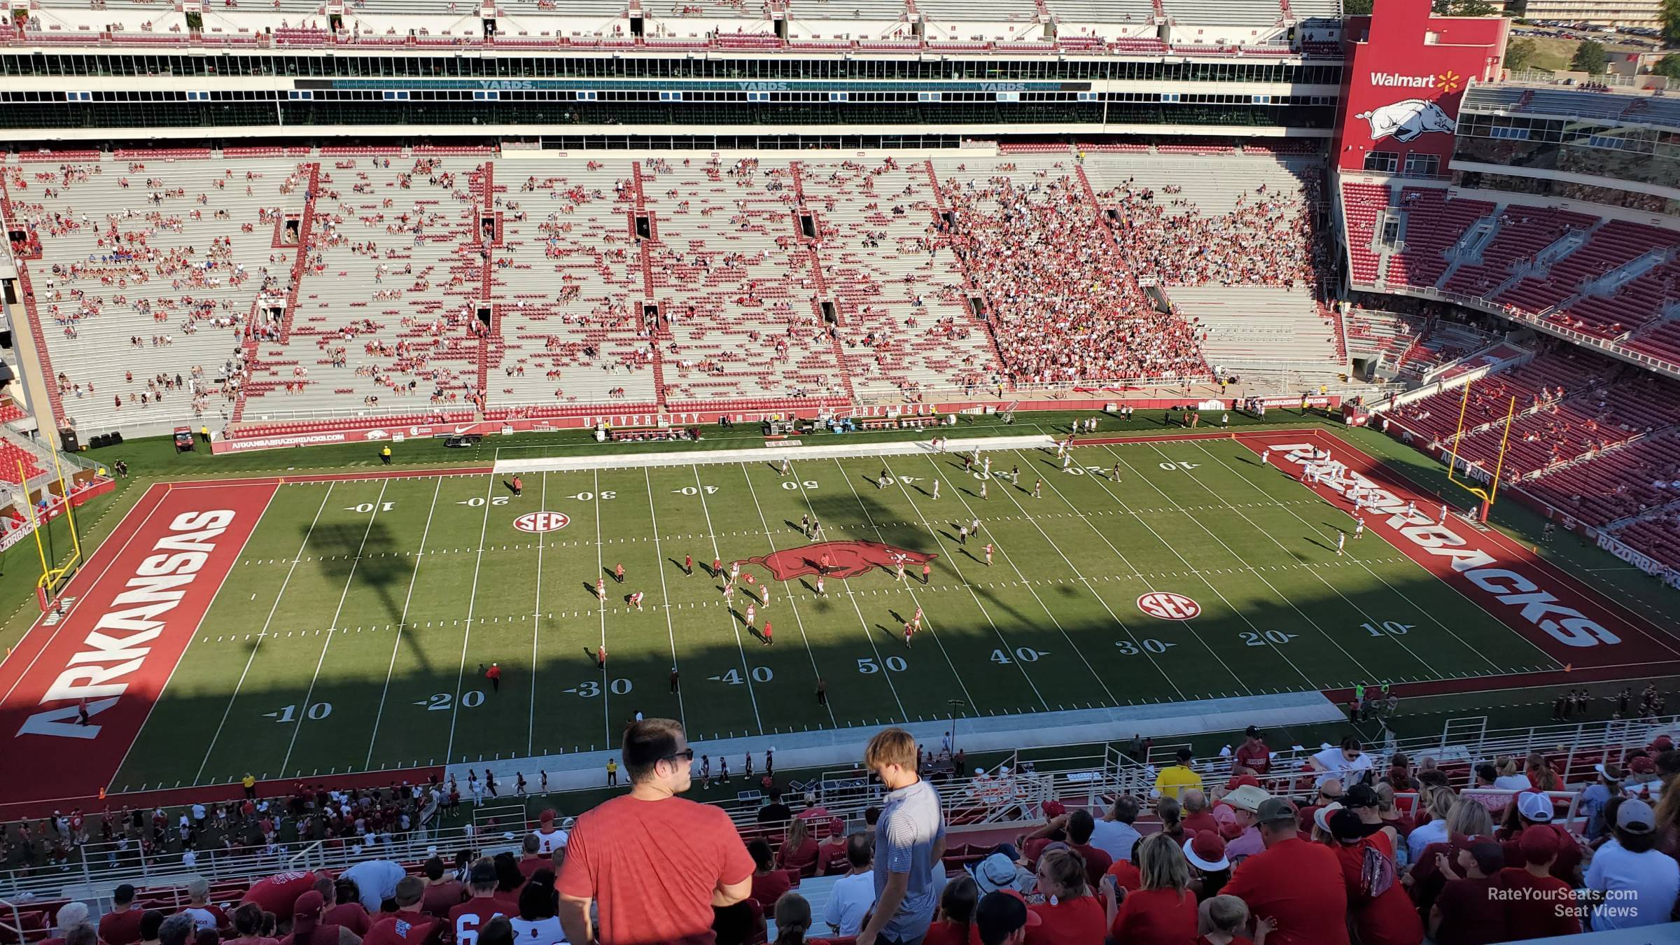
[[[1021,486],[995,476],[981,499],[954,456],[927,454],[803,459],[791,478],[694,454],[529,474],[519,498],[487,474],[284,484],[111,789],[601,750],[637,711],[706,740],[936,720],[951,700],[986,716],[1556,668],[1376,535],[1337,557],[1351,518],[1233,441],[1080,447],[1082,474],[1045,451],[988,456]],[[570,523],[512,526],[539,509]],[[827,540],[934,553],[932,575],[875,570],[827,597],[776,583],[766,647],[744,594],[726,607],[701,565],[805,545],[808,513]],[[959,543],[976,516],[983,538]],[[1203,612],[1151,617],[1149,592]]]

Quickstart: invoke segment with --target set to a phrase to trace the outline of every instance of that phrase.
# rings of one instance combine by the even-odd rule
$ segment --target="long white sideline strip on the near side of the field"
[[[1023,715],[993,715],[956,720],[956,747],[964,752],[1010,752],[1015,748],[1048,748],[1057,745],[1119,742],[1132,735],[1146,738],[1173,738],[1203,735],[1208,731],[1242,731],[1250,725],[1280,728],[1289,725],[1320,725],[1347,721],[1347,713],[1324,693],[1277,693],[1268,696],[1228,696],[1178,703],[1142,703],[1097,710],[1060,710]],[[753,735],[743,738],[712,738],[690,742],[696,755],[727,757],[732,784],[743,790],[758,790],[763,773],[764,750],[774,748],[776,767],[837,768],[855,767],[864,760],[869,736],[887,725],[906,728],[921,745],[937,750],[949,720],[897,723],[882,720],[879,725],[853,725],[813,731],[785,731],[780,735]],[[754,755],[753,780],[741,777],[741,758]],[[514,790],[516,773],[524,773],[531,785],[539,784],[538,772],[548,772],[549,790],[585,790],[606,785],[606,762],[618,758],[617,750],[576,752],[536,758],[496,758],[447,765],[445,775],[467,784],[467,773],[496,773],[496,787],[502,797]],[[717,765],[712,765],[716,775]],[[625,785],[623,775],[618,779]],[[465,792],[464,792],[465,794]],[[472,802],[470,797],[462,797]]]

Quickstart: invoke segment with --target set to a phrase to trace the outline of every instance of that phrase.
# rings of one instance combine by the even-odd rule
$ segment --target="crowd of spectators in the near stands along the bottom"
[[[879,807],[816,844],[780,800],[744,841],[722,809],[684,799],[696,770],[685,733],[640,720],[623,738],[628,790],[570,831],[544,812],[522,856],[432,858],[418,874],[388,859],[279,873],[225,906],[203,879],[173,910],[141,908],[119,886],[97,927],[84,903],[62,906],[49,945],[753,945],[769,940],[769,921],[781,945],[1483,945],[1645,928],[1680,905],[1680,790],[1663,790],[1680,753],[1651,748],[1631,755],[1651,780],[1601,763],[1564,824],[1547,794],[1561,779],[1541,753],[1478,765],[1460,792],[1433,760],[1378,765],[1349,738],[1278,779],[1250,730],[1223,784],[1205,784],[1198,772],[1211,768],[1181,752],[1151,797],[1095,810],[1043,802],[1040,824],[963,866],[948,859],[946,805],[900,728],[862,757]],[[296,805],[318,800],[326,819],[380,809],[314,792]],[[766,839],[763,827],[783,824],[778,844]],[[818,874],[837,878],[813,908],[796,878]]]

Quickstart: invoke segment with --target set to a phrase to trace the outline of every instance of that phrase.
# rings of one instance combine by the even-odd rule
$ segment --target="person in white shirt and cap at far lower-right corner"
[[[1586,890],[1593,906],[1593,932],[1640,928],[1668,921],[1680,896],[1680,863],[1656,849],[1656,816],[1651,805],[1626,799],[1616,807],[1611,839],[1593,854]]]

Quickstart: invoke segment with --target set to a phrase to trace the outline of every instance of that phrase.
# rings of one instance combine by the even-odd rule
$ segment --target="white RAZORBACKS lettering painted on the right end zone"
[[[1495,610],[1505,622],[1522,624],[1542,631],[1551,639],[1571,647],[1594,647],[1599,644],[1620,644],[1621,637],[1606,629],[1599,620],[1583,614],[1559,600],[1546,587],[1527,577],[1519,565],[1505,563],[1488,553],[1485,541],[1470,541],[1462,535],[1463,526],[1448,516],[1445,525],[1436,523],[1438,503],[1420,501],[1408,516],[1406,501],[1388,489],[1378,486],[1354,471],[1331,472],[1331,467],[1315,461],[1319,447],[1315,444],[1267,444],[1272,456],[1282,454],[1280,467],[1300,476],[1300,469],[1317,467],[1319,484],[1342,496],[1354,486],[1364,498],[1366,525],[1376,531],[1384,531],[1401,550],[1406,545],[1435,555],[1450,565],[1450,573],[1467,582],[1475,590],[1490,595],[1505,607]],[[1336,459],[1336,447],[1331,446],[1331,459]],[[1342,457],[1346,459],[1346,456]]]

